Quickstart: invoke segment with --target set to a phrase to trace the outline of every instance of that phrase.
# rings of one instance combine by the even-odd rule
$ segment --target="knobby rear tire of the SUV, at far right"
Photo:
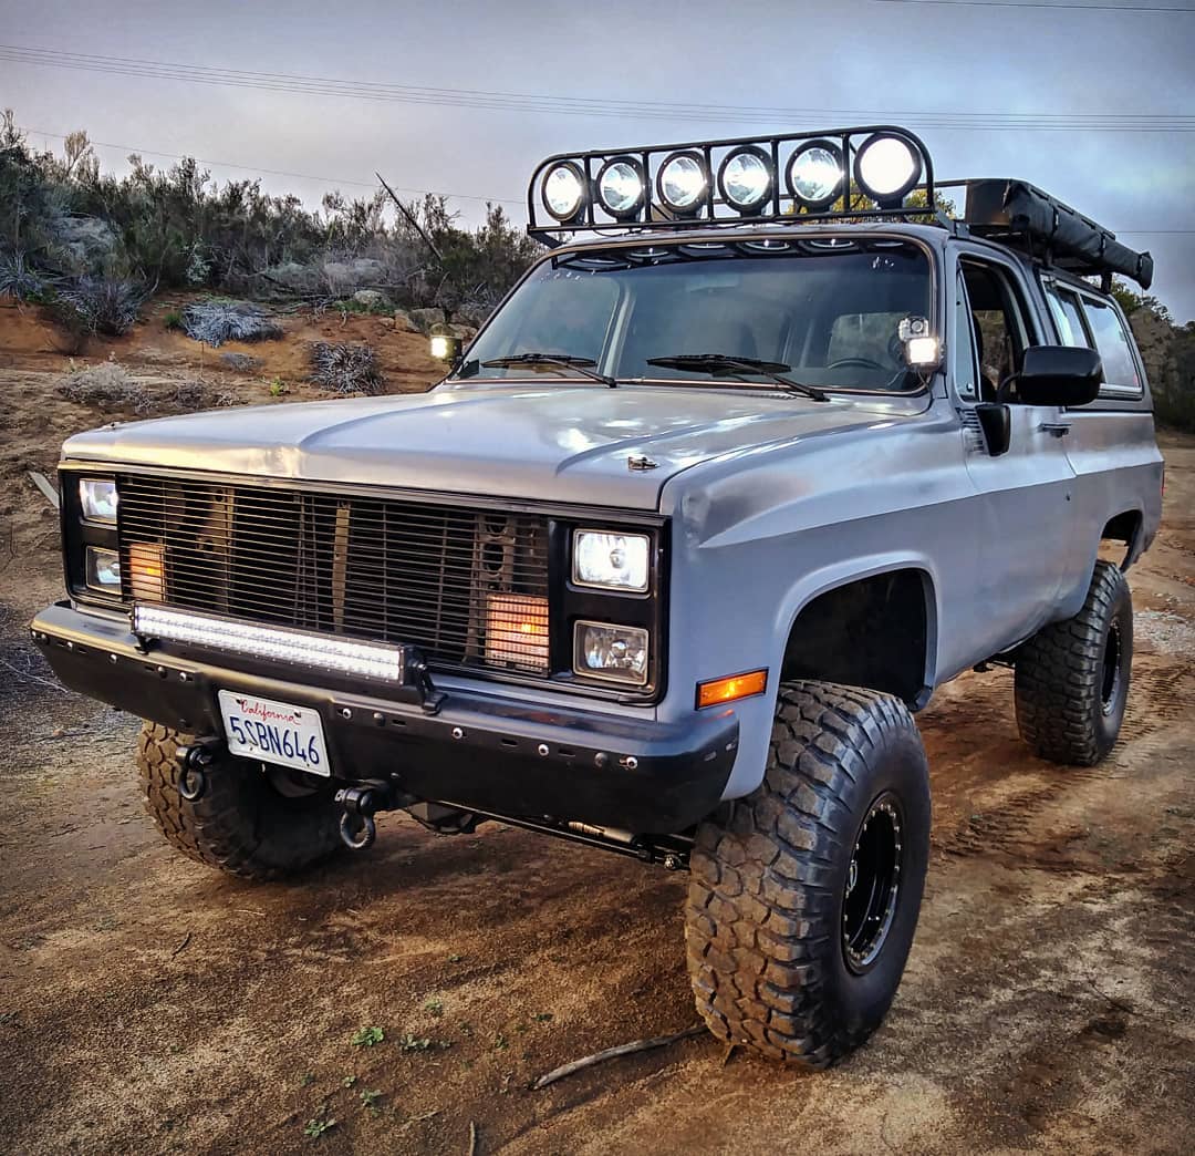
[[[1095,766],[1120,734],[1133,665],[1133,599],[1110,562],[1097,562],[1083,610],[1017,650],[1017,727],[1052,763]]]

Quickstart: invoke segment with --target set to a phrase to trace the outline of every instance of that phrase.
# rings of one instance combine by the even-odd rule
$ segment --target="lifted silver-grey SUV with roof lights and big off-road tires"
[[[710,1029],[831,1064],[913,940],[913,712],[1007,665],[1029,745],[1102,759],[1160,513],[1109,293],[1148,255],[960,195],[882,126],[551,158],[544,257],[430,392],[68,441],[33,638],[146,720],[192,858],[269,879],[404,808],[687,869]]]

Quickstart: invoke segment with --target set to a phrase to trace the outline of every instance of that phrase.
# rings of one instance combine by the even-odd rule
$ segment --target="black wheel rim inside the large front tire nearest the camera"
[[[901,816],[896,797],[881,795],[854,840],[842,893],[842,954],[853,972],[872,967],[900,898]]]

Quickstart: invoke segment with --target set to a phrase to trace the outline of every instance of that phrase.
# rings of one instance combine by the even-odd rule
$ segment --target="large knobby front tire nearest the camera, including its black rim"
[[[764,782],[698,827],[691,856],[685,940],[710,1030],[808,1068],[859,1047],[900,984],[929,852],[929,767],[907,708],[783,685]]]

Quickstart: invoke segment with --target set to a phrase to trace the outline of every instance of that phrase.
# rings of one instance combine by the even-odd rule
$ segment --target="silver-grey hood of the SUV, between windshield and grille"
[[[67,459],[656,509],[691,466],[912,416],[925,398],[813,402],[672,385],[477,385],[115,423]],[[632,470],[644,455],[654,469]]]

